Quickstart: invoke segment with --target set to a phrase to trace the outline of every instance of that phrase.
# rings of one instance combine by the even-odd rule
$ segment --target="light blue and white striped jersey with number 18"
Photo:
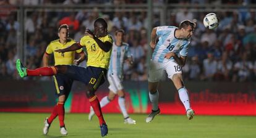
[[[158,26],[156,28],[156,35],[159,36],[159,41],[156,44],[155,50],[152,55],[152,60],[160,63],[174,60],[164,58],[168,52],[174,52],[177,55],[186,57],[189,49],[190,39],[177,39],[174,36],[176,26]]]

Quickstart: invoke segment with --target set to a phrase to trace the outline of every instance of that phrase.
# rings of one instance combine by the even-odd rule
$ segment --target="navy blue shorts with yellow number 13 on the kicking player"
[[[93,87],[96,91],[98,87],[105,82],[106,68],[92,67],[87,68],[79,67],[75,65],[67,66],[67,75],[70,79],[81,81],[87,86]]]

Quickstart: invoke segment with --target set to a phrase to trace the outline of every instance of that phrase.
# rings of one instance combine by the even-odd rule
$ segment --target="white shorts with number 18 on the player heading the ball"
[[[156,83],[160,81],[164,71],[166,71],[168,78],[172,79],[174,74],[182,73],[182,68],[173,60],[166,63],[159,63],[151,60],[150,68],[148,70],[148,82]]]

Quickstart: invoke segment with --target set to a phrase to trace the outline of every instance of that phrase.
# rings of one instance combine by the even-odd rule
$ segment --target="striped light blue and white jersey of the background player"
[[[116,46],[116,43],[113,43],[108,73],[122,76],[124,60],[131,56],[129,44],[122,43],[122,46]]]

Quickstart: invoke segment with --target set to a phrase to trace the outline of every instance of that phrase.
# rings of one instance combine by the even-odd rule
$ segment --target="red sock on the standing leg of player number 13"
[[[96,95],[93,95],[92,97],[89,98],[89,102],[95,112],[95,115],[98,116],[98,119],[100,121],[100,126],[102,124],[106,124],[102,112],[101,112],[101,108],[100,108],[100,102],[98,100],[98,98],[96,97]]]

